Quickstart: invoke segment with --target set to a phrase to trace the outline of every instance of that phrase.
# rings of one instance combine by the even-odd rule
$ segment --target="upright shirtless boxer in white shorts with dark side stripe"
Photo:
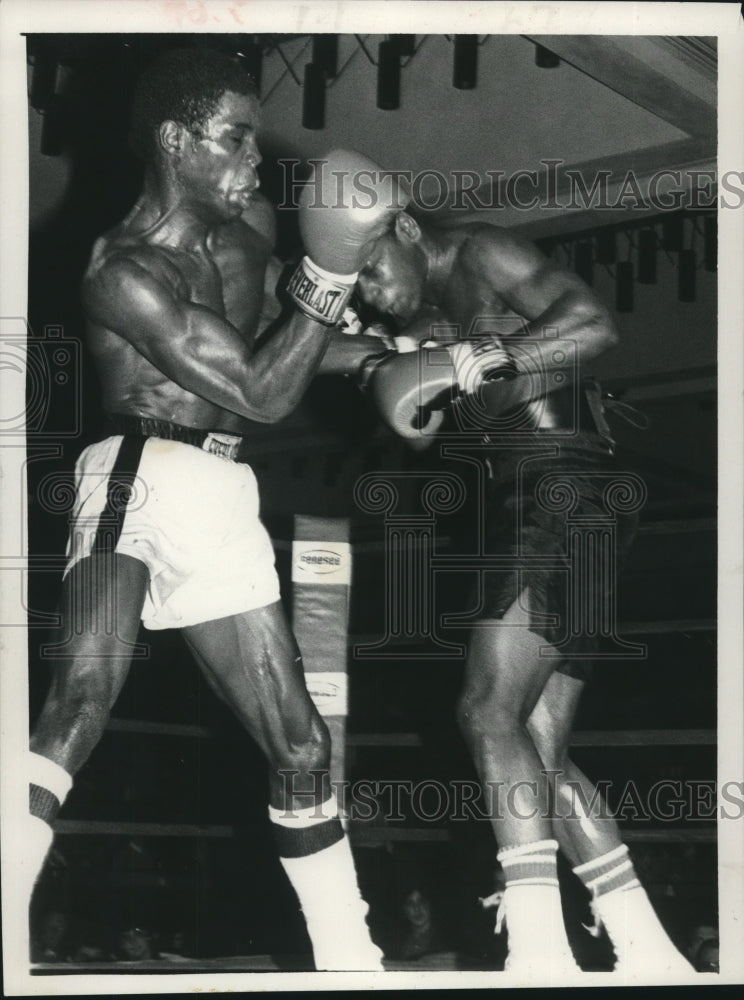
[[[271,253],[250,224],[261,215],[258,120],[252,82],[218,52],[167,53],[139,84],[131,136],[146,165],[143,191],[96,243],[83,282],[111,433],[76,466],[64,656],[31,739],[24,868],[30,892],[54,817],[124,683],[140,621],[180,628],[268,759],[270,817],[316,967],[374,970],[380,952],[327,777],[328,731],[305,687],[241,457],[251,422],[290,413],[322,364],[356,370],[381,345],[338,332],[356,277],[353,240],[328,228],[343,221],[338,213],[316,212],[301,220],[309,257],[290,282],[294,303],[254,351]],[[356,220],[362,242],[379,231],[379,215]],[[292,793],[283,771],[296,772]],[[313,772],[325,774],[320,789]]]

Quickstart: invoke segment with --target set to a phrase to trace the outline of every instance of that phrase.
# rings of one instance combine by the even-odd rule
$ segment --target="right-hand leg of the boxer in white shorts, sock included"
[[[183,630],[202,669],[264,751],[270,817],[318,969],[380,969],[329,784],[330,739],[280,603]],[[282,773],[284,772],[284,774]]]

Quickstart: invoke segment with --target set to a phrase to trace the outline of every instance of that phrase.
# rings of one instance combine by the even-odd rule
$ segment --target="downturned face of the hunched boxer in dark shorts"
[[[398,232],[381,236],[359,272],[357,290],[368,305],[403,327],[421,307],[425,260],[415,241]]]

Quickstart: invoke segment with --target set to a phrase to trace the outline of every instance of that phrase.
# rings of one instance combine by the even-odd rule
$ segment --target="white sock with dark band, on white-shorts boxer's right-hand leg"
[[[368,907],[335,799],[291,815],[270,806],[269,815],[282,867],[302,907],[316,969],[381,970],[382,952],[369,936]]]

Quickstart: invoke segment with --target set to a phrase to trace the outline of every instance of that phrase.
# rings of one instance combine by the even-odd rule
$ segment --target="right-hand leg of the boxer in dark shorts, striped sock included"
[[[545,768],[553,772],[556,839],[592,894],[595,916],[615,949],[617,970],[630,977],[687,973],[691,967],[656,916],[617,823],[596,787],[568,757],[582,688],[582,681],[554,673],[527,723]]]

